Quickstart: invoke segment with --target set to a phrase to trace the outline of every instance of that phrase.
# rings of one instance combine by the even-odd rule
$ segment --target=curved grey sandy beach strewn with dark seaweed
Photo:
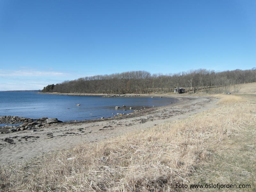
[[[24,161],[45,152],[72,148],[77,143],[96,142],[125,132],[146,129],[217,107],[216,99],[206,96],[171,97],[178,98],[179,101],[162,107],[143,109],[129,116],[64,122],[48,128],[1,134],[0,164]]]

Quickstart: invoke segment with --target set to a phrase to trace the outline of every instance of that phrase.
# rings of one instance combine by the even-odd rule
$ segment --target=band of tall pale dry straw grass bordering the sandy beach
[[[251,104],[221,99],[219,108],[184,120],[1,167],[2,190],[176,191],[176,183],[191,182],[191,173],[211,159],[208,145],[255,124]]]

